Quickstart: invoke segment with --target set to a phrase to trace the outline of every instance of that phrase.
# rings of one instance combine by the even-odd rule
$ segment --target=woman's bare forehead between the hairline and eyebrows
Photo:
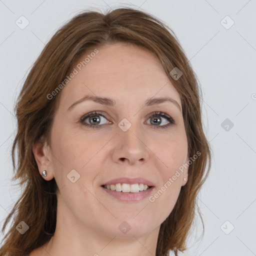
[[[94,49],[76,61],[76,71],[71,69],[76,74],[61,90],[62,106],[88,93],[133,104],[153,96],[171,96],[180,104],[178,92],[149,50],[120,42]]]

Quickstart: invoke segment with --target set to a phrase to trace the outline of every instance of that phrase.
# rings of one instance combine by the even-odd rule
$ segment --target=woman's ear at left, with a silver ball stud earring
[[[42,141],[44,141],[44,139],[40,138],[38,141],[34,142],[32,144],[32,150],[40,175],[45,180],[51,180],[54,177],[52,154],[47,143]],[[47,171],[46,177],[42,175],[43,170]]]

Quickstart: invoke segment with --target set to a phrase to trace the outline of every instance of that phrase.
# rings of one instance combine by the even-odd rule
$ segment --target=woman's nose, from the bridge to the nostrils
[[[147,145],[145,135],[138,128],[131,125],[129,129],[123,131],[117,128],[114,136],[114,146],[112,159],[116,163],[138,165],[148,161],[150,149]]]

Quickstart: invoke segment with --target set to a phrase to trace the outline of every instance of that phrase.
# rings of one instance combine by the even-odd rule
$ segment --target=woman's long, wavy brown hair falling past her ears
[[[198,209],[197,194],[208,176],[211,162],[210,146],[201,121],[201,90],[174,32],[145,11],[123,7],[105,14],[85,10],[71,18],[48,41],[26,77],[15,105],[17,132],[11,151],[15,173],[12,179],[19,179],[19,185],[24,189],[3,224],[2,232],[13,218],[10,230],[4,236],[0,255],[29,254],[54,234],[56,182],[54,178],[46,181],[40,176],[32,152],[32,143],[40,141],[42,136],[50,145],[49,134],[59,93],[51,100],[47,95],[65,79],[75,61],[88,48],[115,42],[142,46],[159,59],[181,98],[188,155],[200,152],[200,156],[189,165],[188,181],[181,187],[173,210],[160,225],[155,253],[165,256],[168,250],[172,250],[177,255],[178,251],[186,249],[186,238],[195,209]],[[179,79],[173,79],[169,74],[174,67],[182,71]],[[198,212],[201,218],[199,209]],[[24,234],[16,230],[20,221],[29,226]]]

